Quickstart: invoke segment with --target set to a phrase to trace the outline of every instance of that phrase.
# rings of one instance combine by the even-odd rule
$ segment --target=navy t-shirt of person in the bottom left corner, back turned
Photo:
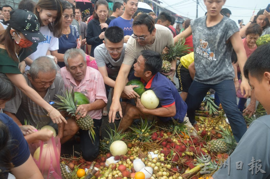
[[[23,137],[19,126],[8,115],[0,113],[0,121],[9,129],[9,137],[12,140],[11,145],[8,146],[12,156],[11,162],[14,167],[18,167],[25,163],[30,156],[28,143]],[[4,178],[8,178],[8,171],[5,168],[0,167],[0,169],[4,173]]]

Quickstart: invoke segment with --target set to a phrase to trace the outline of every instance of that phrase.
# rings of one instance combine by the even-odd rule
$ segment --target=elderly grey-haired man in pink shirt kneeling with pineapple
[[[99,154],[99,131],[102,123],[102,109],[106,106],[107,97],[104,80],[100,72],[86,65],[85,53],[82,49],[71,48],[64,55],[65,67],[61,68],[61,75],[65,88],[85,94],[90,104],[82,104],[77,110],[85,117],[89,114],[94,120],[95,141],[92,142],[88,131],[79,129],[80,148],[82,156],[87,161],[95,160]]]

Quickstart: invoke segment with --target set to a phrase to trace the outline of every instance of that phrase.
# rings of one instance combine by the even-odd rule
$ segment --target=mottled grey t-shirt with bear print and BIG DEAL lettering
[[[228,40],[239,31],[236,23],[224,16],[217,25],[207,27],[204,16],[192,20],[190,26],[196,69],[194,80],[204,84],[217,84],[233,79],[232,44]]]

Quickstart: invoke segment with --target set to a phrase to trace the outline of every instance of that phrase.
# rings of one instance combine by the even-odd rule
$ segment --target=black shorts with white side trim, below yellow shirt
[[[188,89],[192,83],[192,78],[188,69],[186,69],[182,64],[177,68],[177,74],[179,76],[179,88],[182,92],[188,92]]]

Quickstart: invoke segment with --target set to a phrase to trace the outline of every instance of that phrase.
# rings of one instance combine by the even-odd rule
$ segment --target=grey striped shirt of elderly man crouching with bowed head
[[[34,88],[30,80],[27,78],[27,74],[28,70],[23,73],[23,76],[27,84],[31,88]],[[58,98],[55,96],[55,94],[63,96],[61,90],[65,90],[64,81],[61,74],[57,73],[54,82],[47,89],[47,92],[43,99],[48,103],[52,100],[56,101],[58,100]],[[47,116],[48,112],[46,112],[45,109],[38,106],[17,87],[16,96],[12,98],[12,100],[6,102],[6,106],[3,110],[14,113],[22,124],[24,124],[24,120],[26,119],[30,122],[30,125],[34,127],[38,126],[38,128],[41,128],[44,125],[48,125],[52,121],[50,117]]]

